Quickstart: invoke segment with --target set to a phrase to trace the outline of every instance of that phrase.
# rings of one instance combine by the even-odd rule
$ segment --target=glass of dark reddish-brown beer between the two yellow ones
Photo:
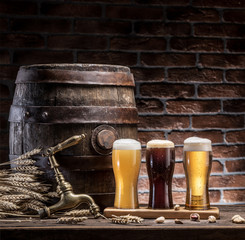
[[[172,208],[174,143],[151,140],[146,146],[146,166],[150,182],[149,208]]]

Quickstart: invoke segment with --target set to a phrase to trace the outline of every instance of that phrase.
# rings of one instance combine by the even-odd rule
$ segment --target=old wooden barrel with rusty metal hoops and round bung
[[[113,205],[112,143],[117,138],[137,139],[138,114],[129,68],[94,64],[21,67],[9,122],[10,159],[85,133],[81,143],[55,155],[60,170],[75,193],[91,195],[102,209]],[[40,157],[38,164],[54,186],[48,159]]]

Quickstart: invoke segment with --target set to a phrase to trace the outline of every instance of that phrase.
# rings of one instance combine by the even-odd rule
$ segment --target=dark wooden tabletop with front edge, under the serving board
[[[220,220],[207,223],[207,220],[175,224],[167,219],[164,224],[156,224],[153,219],[145,219],[142,224],[118,225],[105,219],[89,218],[77,225],[57,224],[55,219],[16,219],[0,220],[0,240],[244,240],[245,224],[234,224],[235,214],[245,217],[245,206],[219,206]]]

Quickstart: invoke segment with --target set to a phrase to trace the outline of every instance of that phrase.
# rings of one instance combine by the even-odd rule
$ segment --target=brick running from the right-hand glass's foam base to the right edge
[[[245,145],[213,146],[214,158],[244,157]]]

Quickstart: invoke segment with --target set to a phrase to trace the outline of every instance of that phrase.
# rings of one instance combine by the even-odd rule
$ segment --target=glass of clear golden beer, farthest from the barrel
[[[208,180],[212,167],[211,141],[206,138],[187,138],[184,141],[183,164],[187,184],[185,208],[209,209]]]

